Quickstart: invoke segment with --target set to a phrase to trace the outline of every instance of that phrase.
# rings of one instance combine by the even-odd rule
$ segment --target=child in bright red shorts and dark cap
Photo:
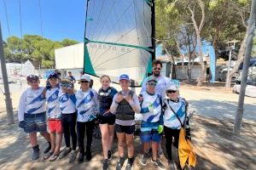
[[[55,161],[60,155],[62,126],[61,126],[61,109],[59,105],[59,76],[53,72],[49,75],[49,89],[46,91],[47,116],[51,142],[51,150],[44,156],[44,159]]]

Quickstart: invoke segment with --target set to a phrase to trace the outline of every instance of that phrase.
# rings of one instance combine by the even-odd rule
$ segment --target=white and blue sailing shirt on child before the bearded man
[[[160,94],[148,94],[143,92],[143,104],[141,113],[144,122],[162,122],[162,107]]]

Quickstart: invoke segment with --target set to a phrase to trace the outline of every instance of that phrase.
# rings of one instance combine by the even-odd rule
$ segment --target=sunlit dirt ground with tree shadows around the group
[[[2,85],[0,85],[3,88]],[[102,147],[101,140],[94,139],[93,158],[89,162],[78,164],[68,163],[68,159],[54,162],[44,161],[41,154],[38,161],[31,161],[31,147],[28,137],[18,127],[17,106],[21,92],[26,84],[10,85],[11,97],[15,111],[15,124],[7,125],[6,109],[3,94],[0,94],[0,169],[101,169]],[[97,89],[98,86],[95,86]],[[139,91],[139,89],[137,89]],[[232,133],[238,95],[230,90],[218,87],[194,88],[182,85],[181,95],[189,100],[189,110],[195,111],[191,120],[192,144],[197,155],[195,169],[256,169],[256,99],[245,99],[244,116],[241,135]],[[38,135],[40,148],[44,150],[45,142]],[[165,150],[165,139],[162,145]],[[64,147],[64,143],[62,142]],[[148,159],[147,166],[139,163],[142,144],[135,137],[136,161],[134,169],[156,169]],[[177,159],[177,157],[176,157]],[[161,160],[167,167],[166,157]],[[113,144],[113,157],[110,168],[115,169],[118,161],[116,139]],[[167,168],[166,168],[167,169]]]

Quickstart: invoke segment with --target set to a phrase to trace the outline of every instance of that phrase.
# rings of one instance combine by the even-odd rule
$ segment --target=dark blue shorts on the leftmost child
[[[24,132],[34,133],[34,132],[47,132],[46,125],[46,112],[37,114],[24,114]]]

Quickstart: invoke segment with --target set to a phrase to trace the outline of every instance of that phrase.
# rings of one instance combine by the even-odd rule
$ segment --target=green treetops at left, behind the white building
[[[55,66],[55,49],[78,43],[70,39],[61,42],[52,41],[38,35],[9,37],[4,42],[4,54],[9,62],[25,62],[30,59],[38,67],[53,68]]]

